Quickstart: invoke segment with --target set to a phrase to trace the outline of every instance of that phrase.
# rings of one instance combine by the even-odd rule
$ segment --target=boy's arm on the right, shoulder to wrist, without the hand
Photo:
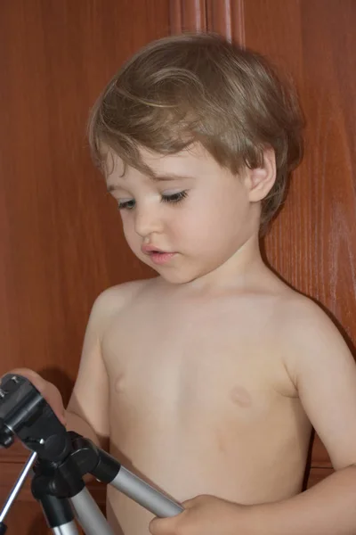
[[[293,324],[292,324],[293,320]],[[335,325],[312,302],[286,327],[287,371],[336,473],[283,502],[256,506],[266,533],[356,533],[356,366]],[[257,520],[258,521],[258,520]],[[256,531],[259,533],[260,531]],[[264,531],[262,531],[264,532]]]

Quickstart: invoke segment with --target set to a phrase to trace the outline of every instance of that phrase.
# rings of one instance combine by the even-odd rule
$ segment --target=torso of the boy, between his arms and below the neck
[[[102,341],[111,454],[178,501],[299,492],[311,428],[283,365],[280,299],[141,284]],[[117,534],[148,535],[152,514],[109,488],[108,518]]]

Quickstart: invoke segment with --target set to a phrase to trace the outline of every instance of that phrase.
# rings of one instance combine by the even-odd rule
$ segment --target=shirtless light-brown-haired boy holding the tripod
[[[94,106],[93,155],[158,277],[96,300],[67,425],[177,500],[218,497],[150,523],[109,488],[117,533],[356,533],[356,367],[259,250],[302,126],[263,58],[209,35],[148,45]],[[336,473],[299,494],[312,425]]]

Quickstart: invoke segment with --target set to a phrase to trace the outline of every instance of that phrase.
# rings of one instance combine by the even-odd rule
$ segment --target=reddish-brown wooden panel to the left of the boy
[[[31,367],[65,402],[93,300],[151,275],[90,161],[88,111],[127,57],[168,33],[167,0],[0,2],[0,374]],[[0,507],[27,457],[0,451]],[[8,524],[47,532],[28,483]]]

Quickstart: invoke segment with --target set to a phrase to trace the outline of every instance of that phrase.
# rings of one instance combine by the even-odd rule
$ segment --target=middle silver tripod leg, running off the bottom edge
[[[115,535],[89,490],[84,488],[76,496],[70,498],[70,502],[85,535]],[[61,531],[58,535],[61,535]]]

